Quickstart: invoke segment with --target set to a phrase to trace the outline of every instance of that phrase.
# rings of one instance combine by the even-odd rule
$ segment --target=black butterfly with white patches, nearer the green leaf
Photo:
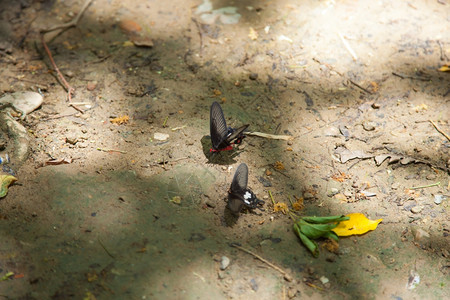
[[[230,190],[228,191],[228,209],[234,214],[239,215],[244,206],[264,210],[262,206],[264,201],[256,198],[256,195],[247,188],[248,167],[246,164],[240,164],[234,173]]]

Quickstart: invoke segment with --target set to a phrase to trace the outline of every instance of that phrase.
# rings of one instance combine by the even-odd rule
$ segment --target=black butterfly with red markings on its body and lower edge
[[[245,137],[244,130],[247,125],[243,125],[237,129],[227,127],[222,108],[217,102],[211,105],[209,127],[211,133],[212,148],[209,152],[219,152],[232,150],[232,144],[240,144]]]

